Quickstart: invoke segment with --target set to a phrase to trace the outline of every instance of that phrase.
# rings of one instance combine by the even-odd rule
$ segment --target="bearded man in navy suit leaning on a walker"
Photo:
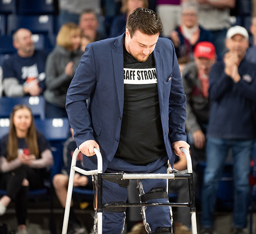
[[[167,173],[168,159],[173,166],[175,153],[184,156],[180,147],[189,150],[181,74],[162,28],[156,13],[137,8],[123,35],[85,48],[66,110],[86,168],[97,167],[94,147],[107,173]],[[103,203],[126,202],[128,182],[103,180]],[[137,183],[145,202],[168,202],[165,179]],[[148,233],[172,233],[168,207],[147,207],[143,218]],[[104,210],[103,233],[121,234],[124,219],[123,208]]]

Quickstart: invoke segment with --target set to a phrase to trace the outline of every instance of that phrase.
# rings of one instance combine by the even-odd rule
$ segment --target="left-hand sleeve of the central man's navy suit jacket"
[[[81,57],[75,76],[66,95],[66,111],[77,146],[87,140],[94,140],[93,128],[86,100],[96,86],[96,69],[93,48],[88,44]]]

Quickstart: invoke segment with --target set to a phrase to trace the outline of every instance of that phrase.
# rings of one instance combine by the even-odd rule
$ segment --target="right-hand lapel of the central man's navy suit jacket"
[[[159,107],[160,113],[162,112],[163,107],[163,72],[162,72],[162,60],[160,51],[157,46],[154,49],[154,61],[155,61],[155,69],[156,69],[156,77],[157,77],[157,89],[158,89],[158,98],[159,98]]]

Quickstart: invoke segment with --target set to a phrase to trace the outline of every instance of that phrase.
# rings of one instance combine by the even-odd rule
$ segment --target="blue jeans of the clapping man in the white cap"
[[[207,139],[206,169],[203,178],[202,226],[212,228],[219,181],[228,151],[232,149],[234,176],[234,227],[247,225],[247,201],[249,194],[250,156],[254,140]]]

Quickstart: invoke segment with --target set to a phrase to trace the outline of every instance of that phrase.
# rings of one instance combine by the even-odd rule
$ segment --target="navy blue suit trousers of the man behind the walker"
[[[114,158],[107,169],[108,173],[167,173],[167,156],[146,165],[132,165],[124,160]],[[166,179],[141,180],[144,192],[153,188],[165,188]],[[126,202],[128,190],[119,184],[103,180],[103,203]],[[148,202],[167,203],[168,199],[152,199]],[[124,227],[124,212],[103,211],[103,233],[121,234]],[[146,221],[149,223],[152,233],[159,227],[171,227],[170,209],[168,206],[147,207]]]

